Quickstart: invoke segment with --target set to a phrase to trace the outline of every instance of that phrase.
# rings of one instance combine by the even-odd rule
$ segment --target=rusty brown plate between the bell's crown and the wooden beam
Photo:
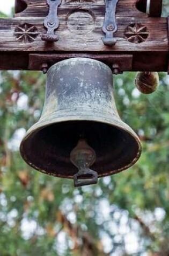
[[[48,67],[53,66],[55,63],[70,59],[70,58],[90,58],[99,60],[109,66],[112,72],[116,73],[115,68],[118,69],[118,73],[123,71],[133,70],[133,55],[132,54],[87,54],[87,53],[61,53],[61,54],[48,54],[48,53],[31,53],[29,56],[29,70],[42,70],[42,65],[45,63]]]

